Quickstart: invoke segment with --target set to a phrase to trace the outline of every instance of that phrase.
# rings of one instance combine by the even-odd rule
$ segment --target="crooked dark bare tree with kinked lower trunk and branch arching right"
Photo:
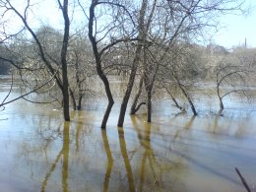
[[[117,11],[117,13],[126,14],[128,15],[127,16],[128,19],[130,19],[131,17],[126,7],[123,6],[118,1],[103,2],[99,0],[92,0],[91,6],[90,6],[90,16],[89,16],[89,38],[91,40],[93,52],[95,55],[96,72],[98,77],[101,79],[101,81],[104,84],[105,94],[108,99],[107,108],[105,110],[105,113],[101,122],[101,128],[105,128],[108,116],[114,104],[114,99],[110,90],[109,81],[104,71],[102,70],[102,57],[104,56],[104,53],[107,50],[109,50],[111,47],[115,46],[116,44],[132,40],[131,37],[133,35],[133,32],[126,32],[126,29],[122,27],[122,25],[125,25],[127,23],[128,19],[125,19],[126,22],[123,23],[124,22],[123,20],[122,21],[117,20],[116,15],[114,15],[113,18],[111,18],[113,19],[111,23],[107,23],[106,26],[103,26],[101,28],[99,27],[99,30],[98,30],[96,26],[96,22],[97,22],[96,18],[98,18],[99,16],[96,16],[96,7],[100,5],[104,6],[104,9],[106,9],[105,7],[110,7],[112,10],[114,10],[115,13]],[[113,8],[117,8],[117,10]],[[131,23],[131,22],[128,21],[128,23]],[[120,28],[122,29],[121,34],[120,34]],[[99,39],[96,39],[97,37],[96,34],[100,32],[100,29],[101,29],[101,32],[104,32],[102,34],[103,37],[101,38],[98,37]],[[118,31],[116,31],[116,29]],[[102,42],[100,44],[99,42],[102,41],[102,39],[105,39],[106,37],[110,39],[110,42],[109,43]]]

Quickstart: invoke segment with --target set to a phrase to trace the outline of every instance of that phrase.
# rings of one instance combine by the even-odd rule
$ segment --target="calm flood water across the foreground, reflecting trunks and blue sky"
[[[245,191],[235,167],[256,191],[256,107],[239,101],[229,115],[193,117],[164,100],[152,123],[127,114],[123,128],[115,103],[106,130],[103,109],[63,122],[50,106],[12,102],[0,111],[0,191]]]

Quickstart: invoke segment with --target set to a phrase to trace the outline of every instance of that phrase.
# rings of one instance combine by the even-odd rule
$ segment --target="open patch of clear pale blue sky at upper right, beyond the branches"
[[[213,42],[226,48],[244,44],[247,39],[248,47],[256,47],[256,0],[247,0],[252,8],[250,13],[241,15],[225,15],[221,19],[222,28],[213,37]]]

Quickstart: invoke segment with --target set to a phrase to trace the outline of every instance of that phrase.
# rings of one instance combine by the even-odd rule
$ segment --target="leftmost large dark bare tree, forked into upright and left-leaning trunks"
[[[60,60],[61,60],[61,77],[56,75],[56,70],[52,66],[51,61],[47,58],[44,47],[42,43],[38,39],[38,36],[33,31],[29,21],[28,21],[28,14],[31,9],[31,1],[27,0],[27,4],[24,7],[23,12],[19,11],[19,9],[9,0],[7,1],[0,1],[0,7],[4,10],[4,15],[8,12],[14,13],[23,23],[24,28],[32,35],[33,40],[36,43],[37,51],[40,56],[41,61],[47,67],[49,73],[54,77],[59,89],[61,90],[62,97],[63,97],[63,113],[64,119],[66,121],[70,120],[69,115],[69,92],[68,92],[68,73],[67,73],[67,49],[68,49],[68,41],[69,41],[69,29],[70,29],[70,21],[68,16],[68,0],[63,0],[63,3],[60,0],[57,0],[59,8],[62,12],[63,19],[64,19],[64,32],[63,32],[63,40],[62,40],[62,47],[60,51]]]

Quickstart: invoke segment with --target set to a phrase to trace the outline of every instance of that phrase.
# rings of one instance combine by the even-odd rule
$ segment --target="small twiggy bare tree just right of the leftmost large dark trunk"
[[[74,110],[82,109],[85,96],[94,96],[95,94],[89,85],[90,79],[96,73],[94,57],[90,41],[84,36],[84,32],[76,32],[72,35],[68,51],[69,93]]]

